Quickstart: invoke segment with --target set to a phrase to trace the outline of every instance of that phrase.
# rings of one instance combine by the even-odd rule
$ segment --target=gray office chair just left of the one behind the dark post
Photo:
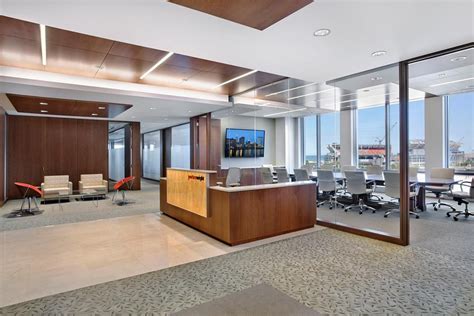
[[[365,172],[360,170],[351,170],[345,171],[344,174],[346,175],[347,192],[352,196],[354,202],[355,199],[358,200],[357,204],[354,203],[346,206],[344,208],[344,212],[347,212],[353,208],[358,208],[359,214],[362,214],[366,210],[371,210],[372,213],[375,213],[375,208],[366,204],[366,201],[372,194],[372,189],[367,189],[367,177]]]

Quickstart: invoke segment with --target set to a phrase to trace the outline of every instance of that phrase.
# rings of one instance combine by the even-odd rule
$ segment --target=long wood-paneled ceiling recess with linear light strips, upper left
[[[251,69],[174,54],[143,80],[168,52],[46,27],[47,64],[41,63],[39,25],[0,16],[0,65],[234,95],[284,77],[258,71],[217,87]]]

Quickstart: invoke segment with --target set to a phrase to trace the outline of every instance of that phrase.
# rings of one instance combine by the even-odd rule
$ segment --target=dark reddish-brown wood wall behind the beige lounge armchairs
[[[8,116],[8,198],[21,197],[14,182],[39,186],[45,175],[67,174],[76,189],[81,174],[107,179],[107,128],[107,121]]]

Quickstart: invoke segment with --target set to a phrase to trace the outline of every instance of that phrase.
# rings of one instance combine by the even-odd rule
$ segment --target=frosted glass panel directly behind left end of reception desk
[[[171,167],[187,168],[191,166],[191,138],[189,124],[171,128]]]

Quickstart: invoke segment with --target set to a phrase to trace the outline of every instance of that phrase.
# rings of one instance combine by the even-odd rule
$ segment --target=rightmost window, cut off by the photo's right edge
[[[452,94],[447,104],[448,166],[474,169],[474,92]]]

